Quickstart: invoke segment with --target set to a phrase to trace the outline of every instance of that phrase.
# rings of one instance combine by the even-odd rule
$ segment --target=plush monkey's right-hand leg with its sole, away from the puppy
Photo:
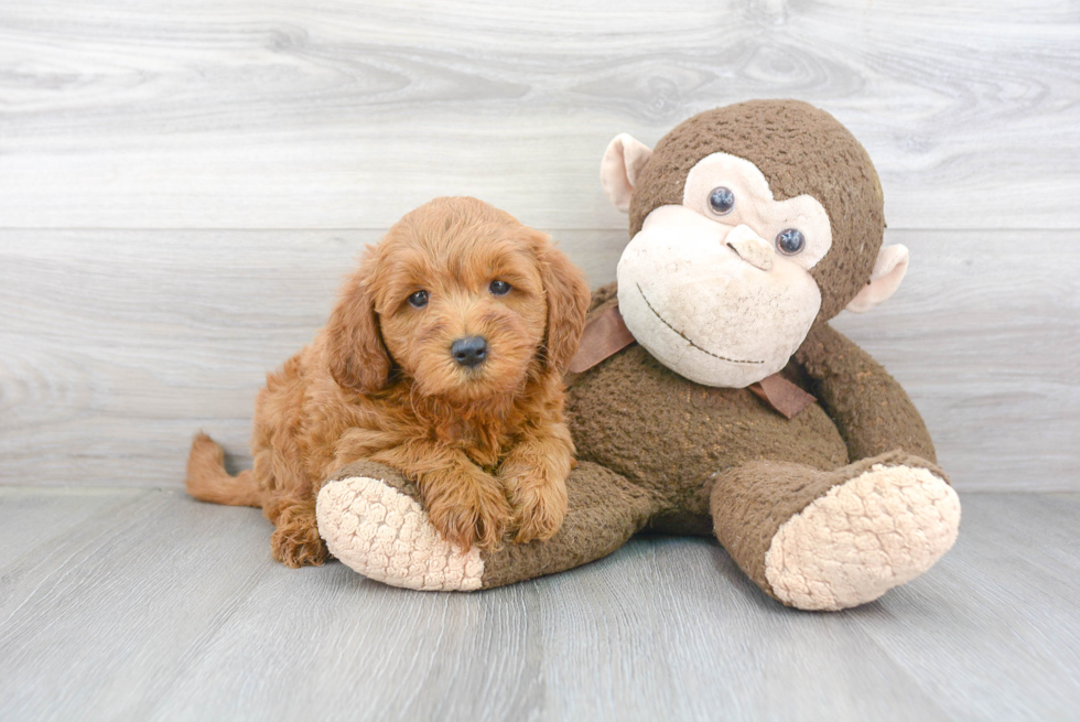
[[[889,452],[822,472],[752,462],[716,479],[716,537],[766,594],[802,610],[872,602],[952,547],[960,500],[933,464]]]

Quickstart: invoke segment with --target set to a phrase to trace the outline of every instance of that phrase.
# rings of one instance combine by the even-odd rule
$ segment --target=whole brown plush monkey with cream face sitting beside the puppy
[[[581,463],[562,530],[462,553],[407,479],[360,463],[320,495],[331,551],[390,584],[469,590],[580,565],[645,529],[715,534],[767,594],[807,610],[929,569],[955,540],[957,495],[900,386],[827,324],[887,299],[907,268],[904,247],[882,247],[862,146],[809,105],[752,101],[655,151],[618,136],[602,181],[631,240],[572,366]]]

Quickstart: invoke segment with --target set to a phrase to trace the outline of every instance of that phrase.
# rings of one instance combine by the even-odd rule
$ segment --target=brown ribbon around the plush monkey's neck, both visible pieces
[[[619,313],[617,305],[613,305],[585,325],[581,345],[570,362],[570,371],[572,374],[586,371],[633,343],[634,335],[626,327],[623,314]],[[779,374],[763,378],[747,388],[788,419],[793,419],[818,400]]]

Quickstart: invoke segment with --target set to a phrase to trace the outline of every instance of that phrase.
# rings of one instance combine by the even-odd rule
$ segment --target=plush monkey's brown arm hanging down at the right
[[[828,324],[811,331],[795,360],[816,381],[852,461],[904,449],[937,463],[933,442],[911,399],[870,354]]]

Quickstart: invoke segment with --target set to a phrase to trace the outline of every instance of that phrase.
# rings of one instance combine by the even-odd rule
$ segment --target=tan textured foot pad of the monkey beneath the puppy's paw
[[[381,479],[350,476],[327,483],[315,506],[331,553],[354,571],[391,586],[422,591],[480,588],[479,549],[447,542],[414,499]]]

